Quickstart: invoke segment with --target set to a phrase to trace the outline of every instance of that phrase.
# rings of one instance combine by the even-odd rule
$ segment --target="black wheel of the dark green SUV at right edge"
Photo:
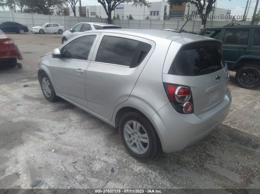
[[[240,67],[236,81],[242,88],[256,89],[260,85],[260,66],[252,63]]]

